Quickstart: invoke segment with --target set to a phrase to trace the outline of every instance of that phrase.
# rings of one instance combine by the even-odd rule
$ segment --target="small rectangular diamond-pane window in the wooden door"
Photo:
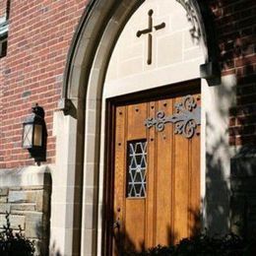
[[[147,142],[128,142],[127,197],[146,197]]]

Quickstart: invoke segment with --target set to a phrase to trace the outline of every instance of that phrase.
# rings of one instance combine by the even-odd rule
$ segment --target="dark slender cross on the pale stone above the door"
[[[153,26],[153,10],[151,9],[149,11],[149,27],[146,30],[143,31],[139,31],[136,33],[136,35],[138,37],[140,37],[142,34],[148,34],[148,65],[152,64],[152,32],[153,32],[153,28],[156,31],[162,30],[163,28],[165,28],[165,23],[161,23],[160,25],[157,26]]]

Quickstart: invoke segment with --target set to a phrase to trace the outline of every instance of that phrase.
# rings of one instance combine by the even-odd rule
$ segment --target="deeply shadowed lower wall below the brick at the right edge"
[[[231,160],[231,229],[245,238],[256,234],[256,147],[242,147]]]

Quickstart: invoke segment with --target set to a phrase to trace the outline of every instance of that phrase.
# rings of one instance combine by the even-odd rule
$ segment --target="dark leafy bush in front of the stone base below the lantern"
[[[20,231],[14,233],[11,228],[9,214],[6,214],[6,225],[0,232],[0,255],[1,256],[32,256],[34,253],[34,244],[27,239],[20,226]]]

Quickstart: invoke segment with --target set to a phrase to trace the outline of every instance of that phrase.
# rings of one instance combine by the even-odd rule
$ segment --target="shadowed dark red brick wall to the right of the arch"
[[[237,79],[237,107],[230,109],[229,143],[256,144],[256,1],[212,4],[219,33],[223,75]]]

